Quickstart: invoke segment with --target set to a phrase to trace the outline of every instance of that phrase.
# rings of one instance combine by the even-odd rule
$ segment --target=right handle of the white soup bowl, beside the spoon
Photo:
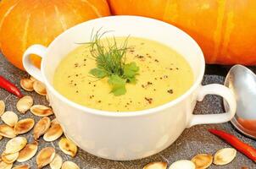
[[[192,115],[192,119],[188,124],[187,128],[190,128],[197,124],[209,124],[209,123],[225,123],[231,120],[235,116],[237,111],[237,102],[235,96],[231,90],[224,85],[212,84],[201,86],[198,91],[198,101],[203,101],[205,95],[220,95],[222,96],[227,105],[229,111],[220,114],[203,114],[203,115]]]

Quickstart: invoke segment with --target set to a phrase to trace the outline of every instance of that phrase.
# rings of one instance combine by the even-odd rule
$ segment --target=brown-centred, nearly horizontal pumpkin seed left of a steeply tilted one
[[[14,132],[15,134],[25,134],[31,131],[31,129],[34,127],[35,121],[33,118],[25,118],[22,120],[19,120],[18,123],[14,126]]]

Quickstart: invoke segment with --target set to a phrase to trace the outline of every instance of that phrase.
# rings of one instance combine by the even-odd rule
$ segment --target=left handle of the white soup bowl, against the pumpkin
[[[23,60],[22,60],[25,70],[29,74],[31,74],[31,76],[33,76],[34,78],[38,79],[41,82],[43,82],[42,73],[39,68],[36,68],[36,66],[34,66],[31,63],[30,56],[31,56],[31,54],[35,54],[35,55],[43,58],[46,56],[46,53],[47,53],[46,46],[33,45],[33,46],[30,46],[29,48],[27,48],[27,50],[25,51],[25,53],[23,55]]]

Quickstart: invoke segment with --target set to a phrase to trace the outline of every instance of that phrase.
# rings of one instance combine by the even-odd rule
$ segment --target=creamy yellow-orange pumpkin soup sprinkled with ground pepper
[[[126,37],[116,37],[117,44]],[[104,40],[102,40],[104,41]],[[111,41],[110,41],[111,42]],[[81,45],[59,63],[53,85],[59,93],[76,103],[98,110],[131,112],[149,109],[175,100],[193,83],[192,68],[185,58],[157,41],[130,37],[127,62],[140,68],[136,84],[127,84],[125,95],[110,93],[107,78],[89,74],[96,68],[88,45]]]

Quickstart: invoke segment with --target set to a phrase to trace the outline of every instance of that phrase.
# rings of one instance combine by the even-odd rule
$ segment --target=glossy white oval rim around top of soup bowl
[[[54,41],[58,40],[58,38],[60,38],[62,35],[68,34],[71,30],[75,29],[75,27],[78,27],[78,26],[81,26],[81,25],[85,25],[86,23],[95,22],[96,20],[116,19],[116,18],[118,18],[118,19],[122,19],[122,18],[123,19],[129,19],[129,18],[131,18],[131,19],[134,19],[134,18],[136,18],[136,19],[147,19],[147,20],[156,22],[156,23],[161,24],[161,25],[168,25],[170,27],[173,27],[177,32],[179,32],[179,34],[185,35],[186,38],[189,41],[191,41],[194,44],[195,47],[198,48],[198,50],[199,50],[198,52],[200,52],[200,55],[198,57],[201,57],[201,59],[198,59],[198,60],[200,61],[200,65],[202,67],[200,73],[198,74],[197,79],[194,81],[193,85],[189,88],[189,90],[186,90],[185,93],[183,93],[182,95],[180,95],[178,98],[176,98],[173,101],[169,101],[169,102],[167,102],[167,103],[165,103],[163,105],[156,106],[156,107],[149,108],[149,109],[145,109],[145,110],[133,111],[133,112],[110,112],[110,111],[97,110],[97,109],[89,108],[89,107],[86,107],[86,106],[82,106],[82,105],[80,105],[78,103],[75,103],[74,101],[70,101],[64,95],[61,95],[57,90],[55,90],[53,85],[51,85],[48,82],[48,80],[46,78],[46,74],[44,74],[44,72],[45,72],[44,70],[45,70],[47,64],[45,63],[46,59],[42,59],[42,68],[41,68],[42,78],[44,80],[45,85],[47,86],[47,90],[50,90],[50,92],[52,92],[53,95],[57,96],[60,101],[63,101],[63,103],[69,104],[70,106],[73,106],[76,109],[79,109],[79,110],[81,110],[84,113],[90,113],[92,115],[97,115],[97,116],[101,116],[101,117],[102,116],[103,117],[138,117],[138,116],[147,116],[147,115],[150,115],[150,114],[153,114],[153,113],[160,112],[160,111],[162,111],[164,109],[167,109],[170,106],[175,106],[179,102],[185,100],[186,97],[191,95],[194,90],[197,90],[198,86],[201,85],[201,82],[203,80],[204,70],[205,70],[205,60],[204,60],[204,57],[203,57],[202,49],[200,48],[200,46],[198,46],[198,43],[190,35],[186,34],[186,32],[184,32],[183,30],[177,28],[175,25],[170,25],[170,24],[165,23],[165,22],[163,22],[161,20],[151,19],[151,18],[142,17],[142,16],[134,16],[134,15],[116,15],[116,16],[107,16],[107,17],[102,17],[102,18],[97,18],[97,19],[91,19],[91,20],[88,20],[88,21],[83,22],[81,24],[75,25],[75,26],[71,27],[68,30],[65,30],[62,34],[58,35],[54,39]],[[51,44],[47,47],[47,52],[49,51],[49,49],[51,49],[53,47],[54,41],[52,41]]]

